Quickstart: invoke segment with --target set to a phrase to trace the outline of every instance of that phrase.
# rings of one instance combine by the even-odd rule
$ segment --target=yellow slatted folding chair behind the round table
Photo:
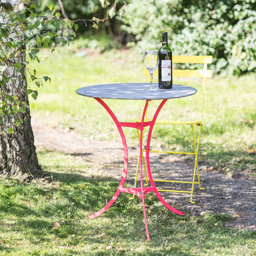
[[[192,188],[189,191],[168,190],[168,189],[158,189],[158,191],[191,193],[190,202],[195,203],[195,202],[192,201],[194,185],[198,184],[199,189],[203,189],[200,186],[200,176],[199,176],[197,159],[198,159],[198,148],[199,148],[199,140],[200,140],[200,135],[201,135],[201,127],[202,127],[202,111],[203,111],[203,100],[204,100],[204,93],[205,93],[205,87],[206,87],[206,78],[211,77],[211,71],[207,70],[207,64],[212,63],[212,56],[178,56],[178,55],[174,55],[172,61],[173,61],[173,63],[203,64],[203,69],[202,70],[198,70],[198,69],[173,69],[173,77],[202,78],[201,115],[197,120],[192,120],[192,121],[191,120],[190,121],[156,120],[155,125],[157,125],[157,124],[163,124],[163,125],[190,125],[191,128],[192,128],[192,135],[193,135],[193,141],[194,141],[194,152],[191,153],[191,152],[154,151],[154,150],[150,150],[149,152],[195,155],[195,168],[194,168],[194,175],[193,175],[193,180],[192,181],[188,182],[188,181],[154,180],[155,182],[177,182],[177,183],[192,184]],[[150,82],[150,74],[149,74],[149,72],[146,68],[143,69],[143,74],[148,75],[148,81]],[[158,69],[155,70],[153,75],[158,76]],[[140,119],[135,119],[133,121],[140,122],[141,120]],[[150,119],[147,119],[147,114],[145,116],[145,121],[151,121]],[[195,140],[195,126],[199,127],[197,142]],[[137,131],[137,134],[138,134],[138,138],[139,138],[139,141],[140,141],[139,131]],[[146,181],[147,181],[147,185],[148,185],[148,176],[147,176],[147,172],[146,172],[146,168],[145,168],[143,152],[145,152],[145,150],[142,150],[142,161],[143,161]],[[136,178],[135,178],[135,188],[136,188],[136,184],[137,184],[139,162],[140,162],[140,159],[138,159]],[[197,182],[195,182],[195,173],[196,172],[197,172],[197,179],[198,179]]]

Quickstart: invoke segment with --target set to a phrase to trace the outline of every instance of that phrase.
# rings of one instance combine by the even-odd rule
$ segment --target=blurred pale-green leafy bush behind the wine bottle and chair
[[[173,54],[212,55],[216,73],[256,70],[256,0],[130,0],[120,19],[140,52],[167,31]]]

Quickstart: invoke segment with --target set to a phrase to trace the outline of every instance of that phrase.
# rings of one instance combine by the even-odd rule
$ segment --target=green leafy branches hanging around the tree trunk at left
[[[12,5],[13,2],[15,4]],[[13,77],[25,81],[26,85],[23,85],[22,90],[36,100],[38,91],[27,88],[26,73],[38,88],[42,87],[43,82],[51,80],[47,76],[37,77],[36,70],[29,69],[28,60],[40,61],[38,53],[41,48],[68,44],[76,37],[77,20],[69,20],[61,0],[58,2],[64,19],[58,12],[54,15],[39,13],[39,1],[36,0],[0,2],[0,123],[4,121],[5,116],[13,116],[13,122],[8,128],[9,133],[13,132],[13,125],[18,127],[23,121],[22,117],[16,114],[25,113],[28,108],[17,95]],[[103,20],[93,18],[82,21],[85,24],[90,21],[93,27],[98,28],[98,23]],[[29,58],[19,57],[25,54],[25,51]]]

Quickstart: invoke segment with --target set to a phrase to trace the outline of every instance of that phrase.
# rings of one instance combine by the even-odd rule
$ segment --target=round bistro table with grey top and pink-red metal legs
[[[155,87],[155,90],[147,90],[149,87],[148,83],[116,83],[116,84],[102,84],[102,85],[92,85],[87,86],[83,88],[79,88],[76,90],[77,94],[80,94],[82,96],[86,97],[93,97],[96,101],[98,101],[107,111],[108,114],[112,117],[114,120],[116,127],[120,133],[123,149],[124,149],[124,168],[123,168],[123,175],[121,178],[121,182],[119,184],[118,189],[115,192],[115,195],[112,197],[112,199],[108,202],[108,204],[103,207],[101,210],[96,212],[95,214],[89,216],[88,218],[95,218],[99,215],[101,215],[103,212],[105,212],[117,199],[118,195],[121,192],[130,193],[133,195],[137,195],[142,200],[143,205],[143,213],[144,213],[144,220],[145,220],[145,227],[146,227],[146,233],[147,233],[147,240],[150,240],[149,234],[148,234],[148,225],[147,225],[147,218],[146,218],[146,210],[145,210],[145,204],[144,204],[144,198],[145,194],[154,191],[155,195],[158,197],[158,199],[162,202],[163,205],[165,205],[168,209],[175,212],[176,214],[183,215],[183,213],[173,207],[171,207],[167,202],[164,201],[162,196],[157,191],[151,171],[150,171],[150,164],[149,164],[149,147],[150,147],[150,138],[152,134],[153,127],[155,125],[155,120],[162,109],[163,105],[168,99],[173,98],[181,98],[181,97],[187,97],[190,95],[193,95],[196,93],[196,89],[189,86],[183,86],[183,85],[173,85],[172,89],[159,89],[158,84],[153,84]],[[102,99],[119,99],[119,100],[146,100],[142,116],[141,116],[141,122],[120,122],[115,117],[112,110],[108,107],[108,105],[102,100]],[[162,100],[159,107],[157,108],[155,115],[152,119],[152,121],[144,121],[146,110],[148,108],[148,101],[151,100]],[[148,139],[147,139],[147,147],[146,147],[146,162],[147,162],[147,171],[148,171],[148,178],[150,181],[150,186],[144,188],[143,187],[143,177],[142,177],[142,162],[141,162],[141,154],[142,154],[142,133],[145,127],[149,126],[148,131]],[[128,148],[127,143],[125,140],[125,136],[123,133],[123,130],[121,127],[131,127],[139,129],[141,132],[141,141],[140,141],[140,175],[141,175],[141,188],[124,188],[125,179],[127,176],[127,170],[128,170]]]

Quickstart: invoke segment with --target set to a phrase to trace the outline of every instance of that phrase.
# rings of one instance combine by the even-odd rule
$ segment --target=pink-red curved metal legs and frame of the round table
[[[189,87],[186,87],[186,88],[189,88]],[[194,89],[194,88],[192,88],[192,89]],[[188,95],[192,95],[195,92],[196,92],[196,90],[194,89],[193,93],[190,92],[190,94],[188,94]],[[84,95],[79,90],[77,90],[77,93],[81,94],[81,95]],[[185,96],[188,96],[188,95],[185,95]],[[181,96],[181,97],[184,97],[184,96]],[[120,98],[120,97],[117,96],[116,98]],[[175,98],[175,97],[173,96],[173,97],[170,97],[170,98]],[[162,109],[165,102],[168,101],[168,99],[163,99],[162,100],[159,107],[156,109],[156,112],[155,112],[155,115],[154,115],[152,121],[144,121],[146,110],[148,108],[148,101],[151,101],[151,99],[149,99],[149,100],[147,99],[146,103],[145,103],[145,106],[144,106],[144,109],[143,109],[141,122],[120,122],[120,121],[117,120],[116,116],[114,115],[112,110],[108,107],[108,105],[104,101],[101,100],[101,98],[94,97],[94,99],[96,101],[98,101],[108,111],[108,114],[112,117],[112,119],[115,122],[115,125],[116,125],[116,127],[117,127],[117,129],[120,133],[121,141],[122,141],[122,144],[123,144],[123,150],[124,150],[124,168],[123,168],[123,174],[122,174],[121,182],[118,186],[118,189],[115,192],[115,195],[112,197],[112,199],[108,202],[108,204],[105,207],[103,207],[101,210],[94,213],[93,215],[89,216],[88,218],[93,219],[93,218],[101,215],[102,213],[104,213],[115,202],[115,200],[117,199],[118,195],[121,192],[137,195],[142,200],[144,221],[145,221],[145,227],[146,227],[146,233],[147,233],[147,241],[150,241],[150,237],[149,237],[149,234],[148,234],[148,224],[147,224],[147,217],[146,217],[146,210],[145,210],[145,202],[144,202],[145,194],[147,194],[148,192],[154,191],[155,195],[158,197],[158,199],[162,202],[163,205],[165,205],[168,209],[175,212],[176,214],[183,215],[183,213],[181,211],[173,208],[167,202],[165,202],[164,199],[162,198],[162,196],[159,194],[159,192],[157,191],[157,189],[155,187],[155,183],[154,183],[152,175],[151,175],[150,164],[149,164],[149,146],[150,146],[150,138],[151,138],[152,130],[154,128],[155,120],[156,120],[160,110]],[[142,138],[143,138],[142,133],[143,133],[144,128],[147,127],[147,126],[149,126],[149,131],[148,131],[148,139],[147,139],[147,147],[146,147],[146,162],[147,162],[147,171],[148,171],[148,178],[149,178],[150,186],[144,188],[143,187],[143,177],[142,177],[142,156],[141,156],[141,154],[142,154]],[[127,171],[128,171],[128,148],[127,148],[127,143],[126,143],[126,139],[125,139],[122,127],[136,128],[136,129],[140,130],[140,132],[141,132],[141,136],[140,136],[141,137],[141,141],[140,141],[141,187],[140,188],[124,188],[123,187],[124,183],[125,183],[125,180],[126,180]]]

